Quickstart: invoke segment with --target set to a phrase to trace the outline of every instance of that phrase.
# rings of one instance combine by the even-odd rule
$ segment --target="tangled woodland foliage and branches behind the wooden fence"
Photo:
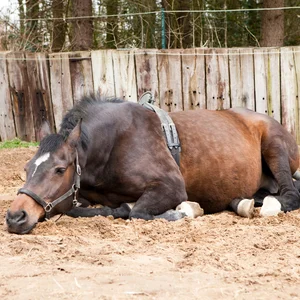
[[[1,44],[3,50],[23,51],[70,51],[81,49],[84,40],[83,50],[161,48],[164,17],[167,48],[260,46],[262,12],[251,9],[262,8],[263,1],[18,0],[21,21],[3,16]],[[285,0],[285,6],[297,5],[299,0]],[[300,44],[299,15],[300,9],[284,11],[285,45]]]

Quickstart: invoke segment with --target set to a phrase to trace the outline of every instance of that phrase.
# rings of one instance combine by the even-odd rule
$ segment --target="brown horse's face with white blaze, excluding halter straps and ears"
[[[58,134],[51,134],[42,140],[40,149],[25,166],[26,182],[23,189],[38,195],[46,203],[52,203],[70,190],[74,184],[76,157],[71,138],[70,134],[64,142]],[[60,142],[57,142],[59,139]],[[72,200],[71,195],[55,206],[51,216],[70,210]],[[37,222],[44,219],[44,208],[28,193],[19,193],[6,214],[7,229],[11,233],[28,233]]]

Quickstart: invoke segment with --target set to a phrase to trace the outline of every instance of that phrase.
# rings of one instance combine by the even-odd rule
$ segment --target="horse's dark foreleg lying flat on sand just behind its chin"
[[[110,208],[103,206],[100,208],[87,208],[87,207],[74,207],[66,213],[67,216],[78,218],[78,217],[95,217],[95,216],[113,216],[115,219],[122,218],[128,219],[131,211],[130,206],[127,203],[121,204],[120,207]]]

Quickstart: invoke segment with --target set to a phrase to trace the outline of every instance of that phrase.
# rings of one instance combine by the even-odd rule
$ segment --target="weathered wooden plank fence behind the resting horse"
[[[0,138],[36,140],[43,120],[57,130],[90,92],[136,102],[148,90],[167,111],[269,114],[300,143],[300,47],[0,52]]]

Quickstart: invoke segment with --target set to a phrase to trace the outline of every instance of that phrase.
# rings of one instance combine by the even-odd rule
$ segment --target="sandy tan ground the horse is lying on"
[[[35,150],[0,150],[1,299],[300,297],[299,211],[170,223],[64,216],[8,234],[5,212]]]

